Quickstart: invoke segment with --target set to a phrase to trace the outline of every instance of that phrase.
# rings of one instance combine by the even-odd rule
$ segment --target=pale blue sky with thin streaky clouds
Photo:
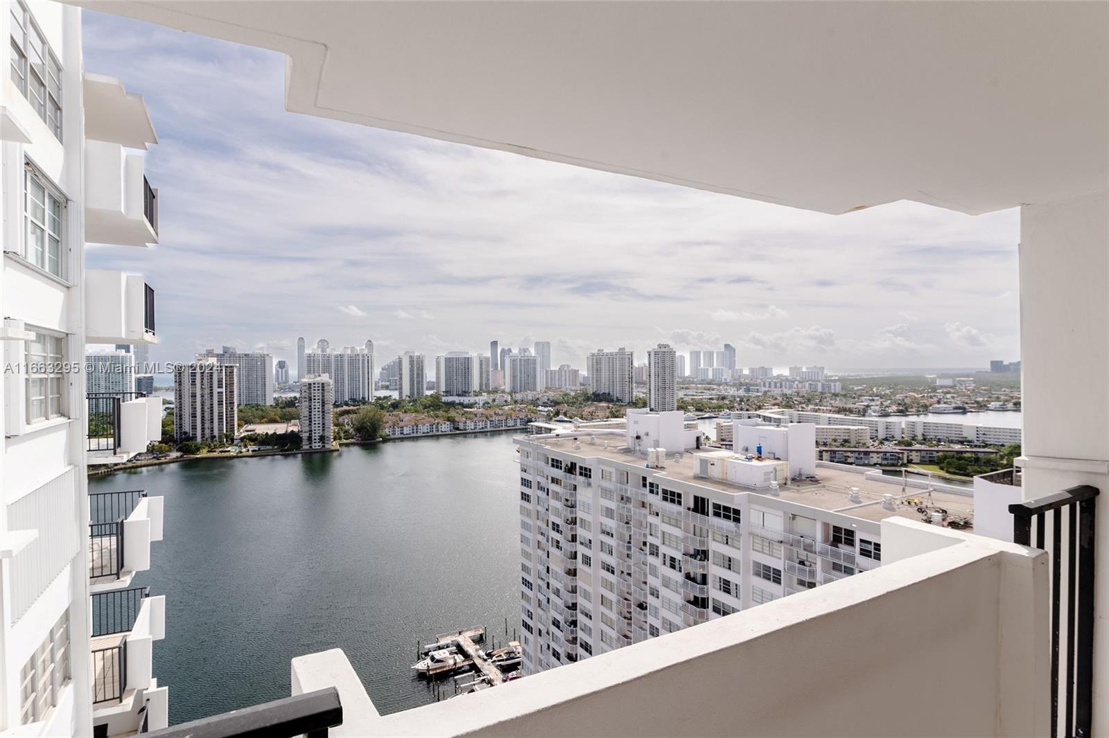
[[[831,216],[289,113],[284,57],[84,11],[89,72],[145,98],[160,244],[90,246],[146,276],[155,361],[222,345],[645,361],[969,368],[1019,358],[1018,212],[893,203]],[[912,142],[906,142],[912,145]]]

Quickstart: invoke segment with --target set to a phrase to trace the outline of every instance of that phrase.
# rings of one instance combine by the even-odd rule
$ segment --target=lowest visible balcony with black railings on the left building
[[[153,644],[165,637],[165,597],[149,587],[92,595],[94,736],[133,736],[169,724],[169,688],[153,675]]]

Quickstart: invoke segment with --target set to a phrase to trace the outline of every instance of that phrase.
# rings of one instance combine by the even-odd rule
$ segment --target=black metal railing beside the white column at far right
[[[1074,486],[1009,505],[1013,540],[1048,551],[1051,580],[1051,735],[1089,738],[1093,709],[1093,523],[1097,488]],[[1051,536],[1047,519],[1051,519]],[[1035,526],[1034,526],[1035,522]],[[1035,527],[1035,535],[1032,529]],[[1066,534],[1064,531],[1066,530]],[[1066,556],[1065,556],[1066,554]],[[1066,567],[1066,571],[1064,571]],[[1066,602],[1066,612],[1062,603]],[[1066,663],[1060,634],[1066,628]],[[1060,679],[1061,676],[1061,679]],[[1059,721],[1059,683],[1066,688]]]

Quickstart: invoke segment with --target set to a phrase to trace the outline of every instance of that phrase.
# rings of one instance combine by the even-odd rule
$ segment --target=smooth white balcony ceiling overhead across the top
[[[82,4],[285,52],[291,111],[827,213],[1109,180],[1103,2]]]

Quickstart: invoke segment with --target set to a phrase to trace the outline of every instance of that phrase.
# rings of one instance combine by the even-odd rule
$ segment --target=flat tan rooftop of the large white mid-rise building
[[[633,453],[623,445],[623,438],[615,434],[598,435],[593,443],[588,440],[579,440],[574,437],[567,438],[522,438],[520,440],[540,443],[553,451],[563,451],[576,455],[598,457],[623,463],[644,467],[647,455]],[[609,440],[606,448],[604,440]],[[896,483],[876,481],[864,475],[864,471],[846,471],[821,467],[818,469],[818,481],[790,480],[787,485],[779,489],[777,495],[771,495],[769,491],[752,490],[737,484],[731,484],[721,480],[701,476],[696,473],[695,457],[701,453],[712,453],[718,457],[729,457],[730,451],[721,449],[703,449],[699,451],[686,451],[681,454],[667,454],[667,465],[661,470],[663,479],[673,479],[692,484],[699,484],[721,492],[731,494],[756,494],[775,500],[807,505],[820,510],[838,512],[853,515],[863,520],[882,521],[893,515],[901,515],[915,520],[923,520],[926,513],[918,512],[917,508],[932,510],[942,509],[949,515],[973,519],[974,498],[955,492],[924,489],[905,488],[904,490]],[[851,501],[851,490],[857,488],[862,502]],[[892,494],[894,509],[883,508],[885,495]]]

